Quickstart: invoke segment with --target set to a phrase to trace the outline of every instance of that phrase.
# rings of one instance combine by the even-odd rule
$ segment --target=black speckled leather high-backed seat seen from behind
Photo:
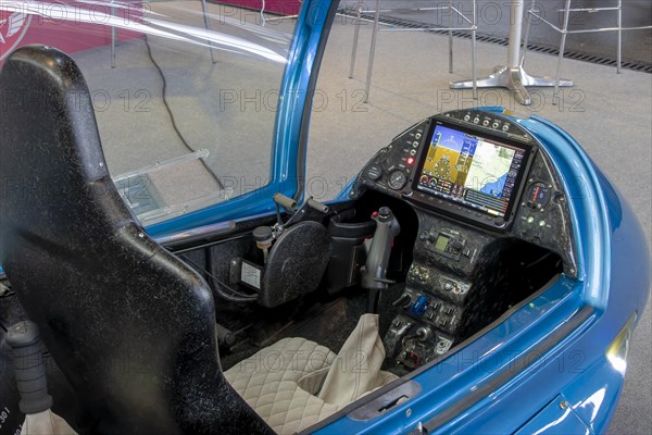
[[[87,432],[269,433],[224,378],[208,285],[120,198],[73,60],[22,48],[0,95],[0,264]]]

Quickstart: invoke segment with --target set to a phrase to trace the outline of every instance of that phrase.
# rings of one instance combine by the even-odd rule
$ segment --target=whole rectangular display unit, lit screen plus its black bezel
[[[506,228],[532,147],[491,133],[435,120],[414,174],[414,198],[447,214]]]

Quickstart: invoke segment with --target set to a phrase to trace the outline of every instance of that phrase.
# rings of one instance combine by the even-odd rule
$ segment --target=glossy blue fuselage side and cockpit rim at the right
[[[502,108],[485,109],[503,112]],[[463,351],[418,375],[416,380],[423,385],[424,391],[411,402],[365,425],[344,418],[319,433],[411,431],[418,422],[427,422],[462,400],[503,370],[505,364],[509,365],[516,356],[543,339],[563,323],[563,304],[567,306],[567,310],[578,310],[585,303],[593,306],[595,311],[581,331],[576,331],[573,337],[563,340],[548,355],[540,356],[540,361],[517,373],[509,385],[503,385],[490,397],[461,412],[438,432],[513,432],[565,386],[573,391],[574,403],[590,401],[595,394],[604,391],[601,406],[591,409],[591,419],[587,417],[587,421],[591,421],[591,425],[598,422],[597,428],[606,427],[617,401],[622,378],[613,376],[614,371],[609,364],[595,373],[600,376],[597,378],[598,386],[586,382],[587,378],[581,382],[581,374],[589,371],[591,365],[604,365],[604,351],[611,340],[634,311],[642,312],[650,288],[649,250],[641,241],[644,236],[629,206],[620,200],[606,177],[570,136],[537,116],[512,120],[541,142],[543,152],[551,158],[564,189],[569,194],[579,279],[563,277],[532,301],[534,307],[524,307]],[[348,189],[338,198],[344,200]],[[564,291],[568,299],[562,303]],[[546,303],[555,299],[551,295],[561,298],[554,302],[556,307]],[[503,356],[502,365],[497,355]],[[587,385],[595,388],[589,390]],[[586,414],[587,409],[581,407],[578,412]],[[484,412],[487,410],[490,410],[489,419]],[[484,418],[475,419],[474,415]],[[577,423],[573,419],[569,421]],[[581,427],[586,430],[582,424],[578,428]]]

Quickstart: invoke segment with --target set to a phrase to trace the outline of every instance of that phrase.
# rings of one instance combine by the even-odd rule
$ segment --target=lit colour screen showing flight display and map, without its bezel
[[[528,157],[524,146],[438,123],[414,187],[506,221]]]

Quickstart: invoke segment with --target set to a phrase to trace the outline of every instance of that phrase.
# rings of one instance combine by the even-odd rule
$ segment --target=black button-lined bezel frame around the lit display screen
[[[510,197],[510,201],[507,202],[507,208],[505,210],[504,216],[494,215],[486,211],[476,209],[474,207],[467,206],[463,202],[453,201],[443,195],[437,195],[436,192],[419,188],[419,179],[423,174],[428,151],[432,144],[432,136],[435,135],[435,130],[438,126],[452,128],[463,134],[498,142],[499,145],[503,145],[506,147],[516,148],[524,152],[523,163],[516,175],[514,182],[514,189],[512,196]],[[415,166],[415,171],[413,172],[413,179],[411,184],[413,191],[412,197],[413,199],[416,199],[417,201],[427,204],[428,208],[435,209],[436,211],[440,211],[444,214],[460,216],[463,220],[473,221],[474,223],[479,223],[485,226],[489,226],[493,229],[506,229],[514,219],[514,214],[517,210],[516,204],[523,196],[523,190],[525,187],[524,178],[529,172],[535,150],[536,148],[532,146],[532,144],[524,142],[522,140],[515,139],[514,137],[510,137],[510,135],[502,134],[496,130],[490,130],[479,125],[469,126],[461,122],[452,122],[452,120],[434,119],[430,124],[430,127],[428,128],[428,134],[425,137],[424,144],[422,145],[417,164]]]

